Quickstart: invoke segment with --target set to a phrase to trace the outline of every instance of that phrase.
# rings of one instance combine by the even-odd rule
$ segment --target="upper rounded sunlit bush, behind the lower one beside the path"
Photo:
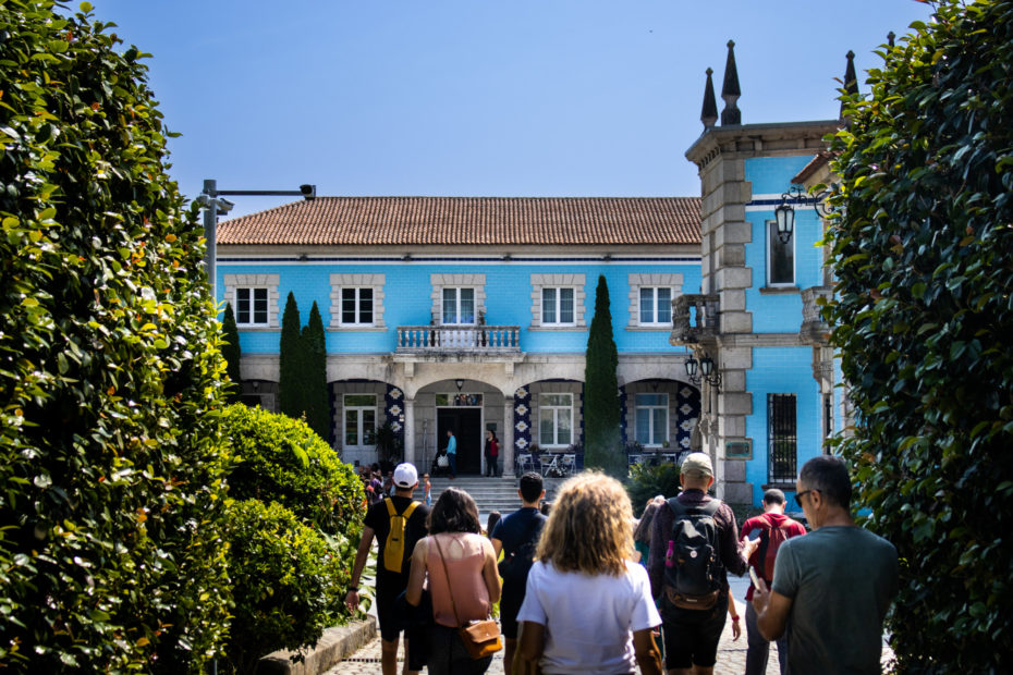
[[[232,405],[223,425],[237,462],[230,496],[279,502],[328,535],[357,539],[365,513],[362,481],[306,422]]]

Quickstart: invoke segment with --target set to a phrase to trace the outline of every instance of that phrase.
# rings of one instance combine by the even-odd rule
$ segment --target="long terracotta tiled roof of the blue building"
[[[218,225],[219,245],[699,243],[698,197],[317,197]]]

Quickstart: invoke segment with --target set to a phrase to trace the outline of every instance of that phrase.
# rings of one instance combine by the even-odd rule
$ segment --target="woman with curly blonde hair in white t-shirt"
[[[585,472],[561,487],[517,614],[520,656],[546,675],[661,675],[661,616],[647,570],[630,560],[632,516],[614,478]]]

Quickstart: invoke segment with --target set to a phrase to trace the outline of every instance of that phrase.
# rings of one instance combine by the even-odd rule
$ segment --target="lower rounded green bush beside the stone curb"
[[[265,654],[313,647],[347,615],[349,565],[277,502],[232,502],[230,520],[235,609],[225,651],[235,672],[253,673]]]

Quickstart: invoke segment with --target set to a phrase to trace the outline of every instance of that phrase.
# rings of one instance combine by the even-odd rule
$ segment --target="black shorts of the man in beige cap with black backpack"
[[[728,592],[720,593],[709,610],[683,610],[662,602],[664,667],[709,667],[717,663],[718,640],[727,617]]]

